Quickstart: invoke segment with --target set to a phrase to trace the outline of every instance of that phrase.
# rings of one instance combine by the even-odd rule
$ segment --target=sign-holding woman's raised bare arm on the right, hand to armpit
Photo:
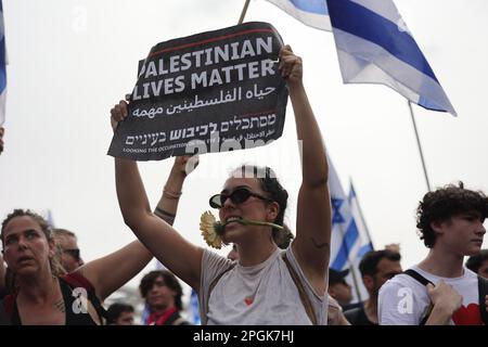
[[[297,138],[301,141],[303,180],[293,247],[314,290],[324,294],[331,248],[331,202],[325,147],[303,83],[301,59],[293,54],[290,46],[283,47],[280,59],[282,75],[287,78]]]

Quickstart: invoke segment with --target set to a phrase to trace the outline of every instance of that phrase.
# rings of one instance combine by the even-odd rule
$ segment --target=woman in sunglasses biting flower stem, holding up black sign
[[[328,162],[303,85],[301,59],[288,46],[280,51],[279,69],[287,80],[298,139],[303,140],[296,237],[287,249],[281,250],[272,237],[283,223],[287,193],[270,168],[236,169],[210,198],[220,222],[213,222],[208,215],[202,221],[207,242],[217,247],[220,241],[237,245],[235,262],[190,244],[155,216],[137,164],[115,159],[125,222],[169,270],[198,292],[204,324],[326,324]],[[127,103],[121,101],[112,110],[112,118],[119,121],[126,116]],[[180,195],[168,185],[165,193],[175,200]],[[206,223],[217,227],[216,233]]]

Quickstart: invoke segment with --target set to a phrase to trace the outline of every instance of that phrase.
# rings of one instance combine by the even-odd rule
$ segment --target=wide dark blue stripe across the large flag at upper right
[[[371,41],[438,82],[415,40],[398,24],[350,0],[328,0],[334,28]]]

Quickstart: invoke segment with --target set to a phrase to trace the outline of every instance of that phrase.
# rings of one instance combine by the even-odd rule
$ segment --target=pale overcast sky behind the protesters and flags
[[[458,112],[413,106],[432,185],[463,180],[488,192],[488,1],[396,0],[400,14]],[[115,194],[111,106],[136,82],[137,64],[168,39],[235,25],[244,0],[3,0],[8,66],[0,216],[52,210],[94,259],[134,239]],[[349,178],[376,247],[400,243],[403,267],[426,248],[414,211],[426,192],[407,101],[387,87],[343,85],[332,34],[309,28],[265,0],[246,21],[271,23],[304,59],[305,85],[345,189]],[[204,245],[200,215],[242,162],[273,167],[291,193],[300,183],[294,118],[273,144],[201,157],[187,180],[176,228]],[[153,206],[172,159],[140,165]],[[484,243],[487,247],[487,242]],[[153,266],[153,265],[152,265]],[[151,266],[151,267],[152,267]],[[133,285],[136,281],[131,282]]]

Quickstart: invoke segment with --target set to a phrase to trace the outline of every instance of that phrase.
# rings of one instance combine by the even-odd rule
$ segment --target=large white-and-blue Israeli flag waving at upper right
[[[345,83],[385,85],[425,108],[454,108],[391,0],[328,0]]]

